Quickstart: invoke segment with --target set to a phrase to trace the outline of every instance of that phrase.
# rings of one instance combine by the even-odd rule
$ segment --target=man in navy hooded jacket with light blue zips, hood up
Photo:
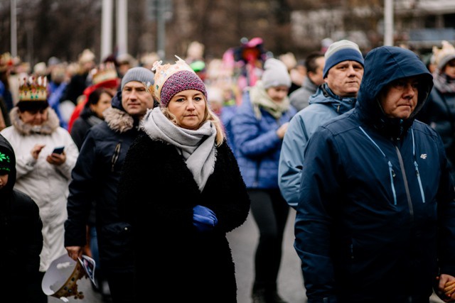
[[[412,51],[375,48],[355,108],[309,139],[294,243],[309,303],[428,303],[455,280],[454,184],[414,119],[432,86]]]

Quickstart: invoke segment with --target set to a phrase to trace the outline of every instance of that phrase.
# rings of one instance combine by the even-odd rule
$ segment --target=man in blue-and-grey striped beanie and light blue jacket
[[[332,43],[324,55],[324,82],[309,99],[309,106],[289,122],[279,158],[279,189],[289,206],[299,199],[304,148],[316,128],[353,109],[363,77],[363,56],[349,40]]]

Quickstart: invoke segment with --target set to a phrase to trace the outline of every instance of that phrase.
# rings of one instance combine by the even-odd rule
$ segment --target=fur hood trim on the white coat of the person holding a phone
[[[9,117],[11,119],[11,124],[23,136],[29,136],[33,133],[50,135],[60,126],[60,120],[58,119],[57,114],[55,114],[55,111],[50,107],[48,107],[48,121],[45,121],[41,126],[32,126],[29,123],[23,123],[19,117],[19,109],[17,106],[11,109]]]

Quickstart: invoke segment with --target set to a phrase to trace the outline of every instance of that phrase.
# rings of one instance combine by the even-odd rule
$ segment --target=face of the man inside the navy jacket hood
[[[397,79],[387,84],[380,95],[382,111],[387,117],[407,119],[417,106],[419,97],[417,77]]]

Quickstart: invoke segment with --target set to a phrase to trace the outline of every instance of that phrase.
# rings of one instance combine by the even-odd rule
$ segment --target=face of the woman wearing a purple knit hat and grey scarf
[[[204,94],[196,89],[188,89],[172,97],[168,111],[176,116],[178,126],[195,130],[204,119],[205,106]]]

